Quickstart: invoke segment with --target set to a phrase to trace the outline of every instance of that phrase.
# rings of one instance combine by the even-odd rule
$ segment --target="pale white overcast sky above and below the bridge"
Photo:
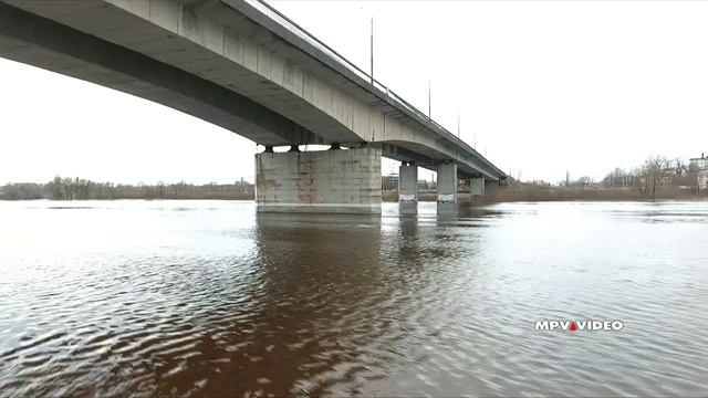
[[[708,153],[708,2],[271,3],[365,70],[373,15],[375,77],[425,112],[430,80],[433,117],[522,179]],[[0,184],[253,180],[252,142],[162,105],[6,60],[0,93]]]

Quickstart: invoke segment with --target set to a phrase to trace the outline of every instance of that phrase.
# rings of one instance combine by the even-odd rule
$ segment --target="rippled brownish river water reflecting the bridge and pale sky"
[[[708,202],[0,202],[0,396],[706,396],[707,331]]]

